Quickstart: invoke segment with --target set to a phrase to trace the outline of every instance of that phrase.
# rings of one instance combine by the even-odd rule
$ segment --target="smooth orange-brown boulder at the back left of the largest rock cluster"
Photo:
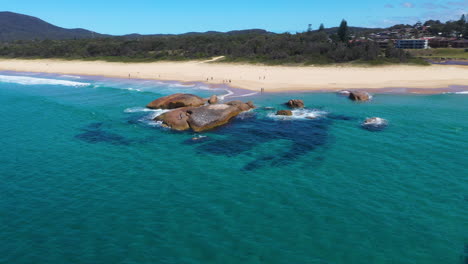
[[[151,109],[176,109],[180,107],[198,107],[205,104],[203,98],[193,94],[172,94],[164,96],[149,103],[146,107]]]

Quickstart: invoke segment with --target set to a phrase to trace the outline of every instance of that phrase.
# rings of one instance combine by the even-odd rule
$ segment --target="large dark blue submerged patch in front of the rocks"
[[[262,143],[274,140],[288,140],[292,145],[283,152],[259,157],[246,164],[244,170],[252,171],[266,166],[283,166],[294,162],[298,157],[324,146],[329,140],[329,126],[332,120],[271,120],[236,119],[231,124],[219,128],[214,133],[226,136],[197,146],[200,153],[236,156],[246,153]]]

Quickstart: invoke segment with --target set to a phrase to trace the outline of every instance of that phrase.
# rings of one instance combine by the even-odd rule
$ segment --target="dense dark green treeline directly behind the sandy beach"
[[[246,33],[16,41],[0,43],[0,56],[107,60],[183,60],[226,56],[230,61],[266,63],[341,63],[392,60],[409,55],[390,46],[381,50],[372,41],[350,41],[346,21],[336,34],[323,28],[297,34]]]

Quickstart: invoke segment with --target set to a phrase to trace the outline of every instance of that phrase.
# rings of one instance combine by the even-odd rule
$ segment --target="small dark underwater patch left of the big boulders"
[[[91,123],[81,130],[84,131],[81,134],[75,136],[75,138],[85,141],[87,143],[109,143],[112,145],[129,145],[130,140],[112,133],[103,130],[103,123]]]

